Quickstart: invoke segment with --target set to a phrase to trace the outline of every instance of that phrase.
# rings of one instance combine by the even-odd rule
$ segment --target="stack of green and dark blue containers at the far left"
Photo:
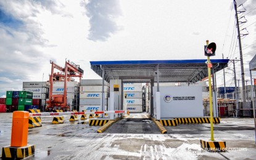
[[[6,112],[27,111],[31,109],[33,93],[27,91],[6,92]]]

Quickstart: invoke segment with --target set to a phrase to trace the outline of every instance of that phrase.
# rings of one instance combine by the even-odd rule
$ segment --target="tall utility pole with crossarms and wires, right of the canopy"
[[[239,51],[240,51],[240,60],[241,60],[240,62],[241,62],[241,76],[242,76],[242,101],[246,102],[246,84],[244,83],[244,62],[242,59],[242,45],[241,45],[239,21],[237,16],[236,0],[234,0],[234,10],[236,10],[236,24],[237,24],[237,33],[238,33]]]

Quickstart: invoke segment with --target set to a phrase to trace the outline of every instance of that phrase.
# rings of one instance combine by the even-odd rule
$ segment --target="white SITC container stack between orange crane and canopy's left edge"
[[[109,95],[109,84],[104,82],[104,108],[107,110],[107,97]],[[80,106],[82,110],[99,110],[102,97],[101,79],[82,79],[80,82]]]

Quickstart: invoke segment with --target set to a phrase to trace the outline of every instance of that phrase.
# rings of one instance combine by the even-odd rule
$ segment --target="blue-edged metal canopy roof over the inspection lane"
[[[210,60],[214,72],[228,66],[228,59]],[[125,79],[125,81],[157,81],[157,68],[160,82],[197,82],[208,76],[206,59],[201,60],[120,60],[93,61],[91,69],[104,79]],[[104,69],[103,69],[104,68]]]

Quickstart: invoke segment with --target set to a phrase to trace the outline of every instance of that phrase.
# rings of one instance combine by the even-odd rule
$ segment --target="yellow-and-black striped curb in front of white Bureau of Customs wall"
[[[210,118],[175,118],[181,123],[210,123]],[[220,123],[220,118],[213,118],[213,123]]]

